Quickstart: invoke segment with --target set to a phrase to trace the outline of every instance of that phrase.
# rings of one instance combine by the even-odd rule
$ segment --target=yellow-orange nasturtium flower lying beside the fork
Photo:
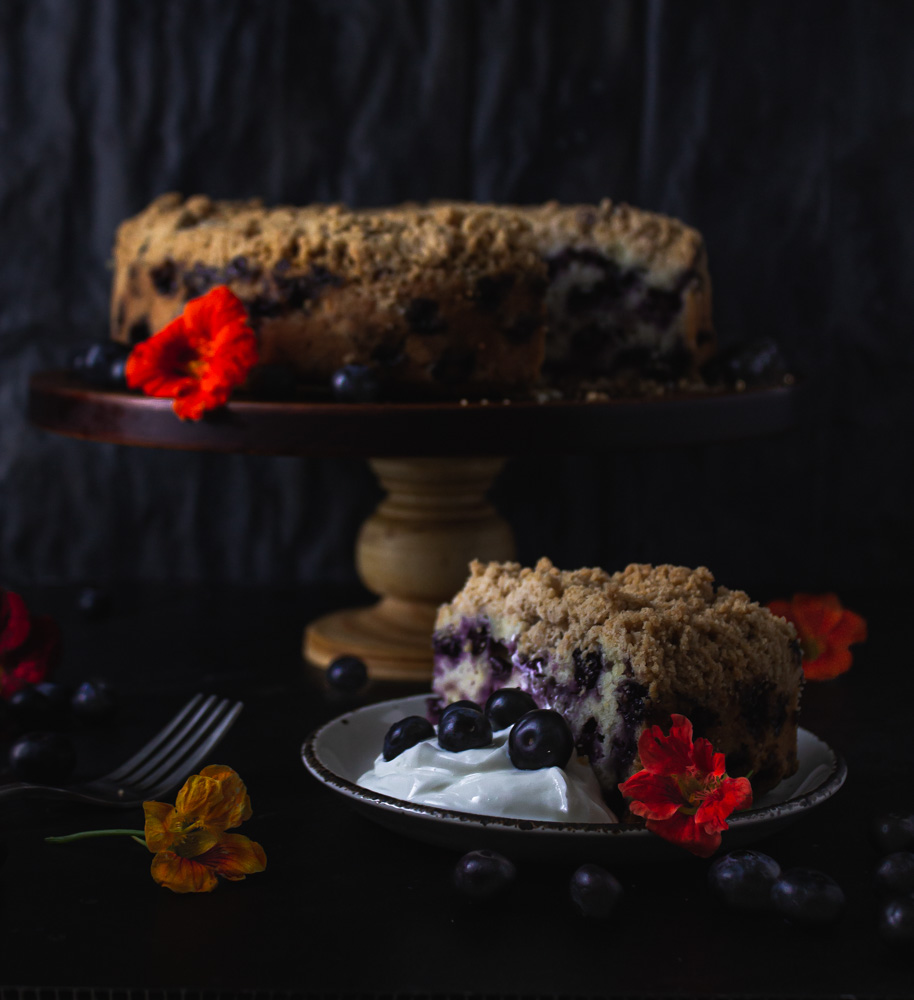
[[[187,779],[175,805],[143,809],[152,877],[172,892],[211,892],[217,875],[235,882],[267,866],[260,844],[225,832],[251,816],[250,796],[230,767],[210,764]]]

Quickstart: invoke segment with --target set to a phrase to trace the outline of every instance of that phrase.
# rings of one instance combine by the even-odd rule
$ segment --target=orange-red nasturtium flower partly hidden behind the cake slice
[[[797,630],[807,680],[828,681],[849,670],[848,647],[866,639],[866,621],[842,607],[836,594],[794,594],[789,601],[769,602],[768,609]]]

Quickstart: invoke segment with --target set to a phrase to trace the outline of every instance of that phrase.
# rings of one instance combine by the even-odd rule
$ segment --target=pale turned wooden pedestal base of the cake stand
[[[463,586],[472,559],[514,558],[514,538],[485,495],[500,458],[376,458],[387,491],[356,543],[356,569],[381,600],[337,611],[305,630],[305,658],[327,667],[363,660],[378,680],[428,680],[440,604]]]

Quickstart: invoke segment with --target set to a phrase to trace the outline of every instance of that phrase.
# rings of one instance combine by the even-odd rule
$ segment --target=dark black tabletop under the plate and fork
[[[847,783],[758,845],[783,868],[818,868],[843,887],[846,914],[819,931],[722,910],[706,887],[709,862],[685,854],[617,867],[625,897],[608,922],[575,914],[568,864],[525,861],[503,897],[467,902],[451,886],[457,853],[357,816],[301,764],[315,726],[402,690],[347,700],[299,660],[309,618],[366,595],[125,587],[96,620],[80,616],[74,588],[25,596],[61,623],[60,679],[102,675],[120,692],[110,728],[72,731],[85,776],[140,745],[189,693],[244,700],[214,760],[246,781],[254,814],[242,832],[264,846],[268,868],[177,896],[152,882],[149,854],[127,838],[43,840],[141,826],[139,810],[0,803],[0,984],[10,995],[914,996],[912,956],[877,935],[868,837],[876,814],[914,809],[910,594],[842,595],[869,618],[870,639],[850,673],[807,685],[802,721],[846,758]]]

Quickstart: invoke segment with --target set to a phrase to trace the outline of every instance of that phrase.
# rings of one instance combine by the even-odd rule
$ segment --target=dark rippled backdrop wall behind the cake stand
[[[0,579],[355,579],[360,461],[26,422],[29,374],[105,333],[116,225],[180,190],[683,218],[721,341],[776,337],[813,405],[776,438],[509,462],[520,557],[705,563],[759,596],[902,584],[912,55],[914,5],[872,0],[0,0]]]

